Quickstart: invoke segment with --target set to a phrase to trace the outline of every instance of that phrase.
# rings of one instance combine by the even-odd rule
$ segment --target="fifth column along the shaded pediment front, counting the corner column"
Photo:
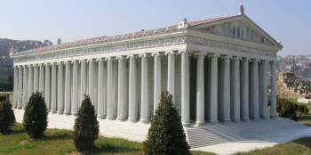
[[[241,121],[241,113],[240,113],[240,60],[237,57],[233,58],[234,61],[234,113],[233,113],[233,121],[239,122]]]

